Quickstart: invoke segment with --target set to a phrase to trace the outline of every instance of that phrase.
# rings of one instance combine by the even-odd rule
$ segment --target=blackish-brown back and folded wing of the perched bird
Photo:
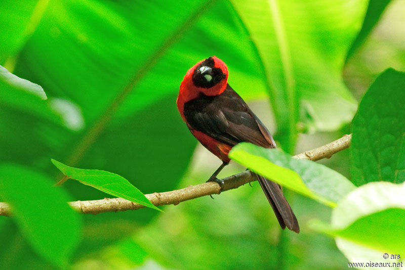
[[[270,132],[229,84],[218,96],[201,94],[185,103],[184,116],[190,128],[227,145],[249,142],[275,148]]]

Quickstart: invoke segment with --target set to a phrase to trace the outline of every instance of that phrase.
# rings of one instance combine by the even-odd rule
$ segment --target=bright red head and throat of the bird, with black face
[[[180,84],[177,108],[184,119],[184,103],[197,98],[200,94],[216,96],[225,91],[228,83],[228,68],[215,57],[209,57],[190,68]]]

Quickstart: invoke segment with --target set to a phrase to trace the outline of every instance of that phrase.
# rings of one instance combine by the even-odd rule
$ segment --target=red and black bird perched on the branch
[[[207,182],[223,182],[218,173],[230,162],[229,151],[241,142],[275,148],[275,142],[260,119],[228,84],[228,68],[216,56],[191,67],[180,84],[177,108],[193,136],[222,160]],[[254,173],[284,230],[299,233],[300,227],[281,187]]]

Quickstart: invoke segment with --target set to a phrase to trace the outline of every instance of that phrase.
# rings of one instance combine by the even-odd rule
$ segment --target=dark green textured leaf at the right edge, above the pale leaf
[[[353,119],[351,178],[356,186],[405,181],[405,73],[387,69]]]

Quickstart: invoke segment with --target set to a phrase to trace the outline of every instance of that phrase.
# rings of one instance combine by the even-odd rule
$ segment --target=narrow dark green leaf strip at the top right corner
[[[361,26],[360,32],[357,34],[356,39],[354,39],[351,44],[350,50],[347,53],[346,61],[353,55],[353,53],[364,43],[367,36],[373,30],[374,26],[380,20],[385,8],[391,0],[370,0],[369,6],[367,8],[366,17],[364,18],[363,25]]]

